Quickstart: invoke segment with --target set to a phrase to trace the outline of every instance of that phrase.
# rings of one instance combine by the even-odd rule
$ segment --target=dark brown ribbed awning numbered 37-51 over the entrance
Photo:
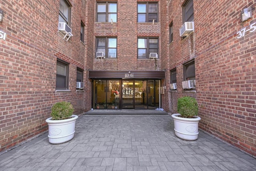
[[[164,79],[164,71],[89,71],[89,78]]]

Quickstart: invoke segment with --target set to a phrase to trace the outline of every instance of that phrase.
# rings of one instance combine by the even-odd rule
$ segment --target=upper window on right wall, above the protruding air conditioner
[[[182,8],[182,19],[184,22],[194,21],[194,9],[193,9],[193,0],[187,0]]]

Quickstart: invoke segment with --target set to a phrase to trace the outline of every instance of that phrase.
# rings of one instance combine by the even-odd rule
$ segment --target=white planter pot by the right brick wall
[[[198,138],[198,122],[201,118],[199,116],[183,118],[177,117],[177,115],[180,113],[172,114],[175,135],[184,140],[196,140]]]

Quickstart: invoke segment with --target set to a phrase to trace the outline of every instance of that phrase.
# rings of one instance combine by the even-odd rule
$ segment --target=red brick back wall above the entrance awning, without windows
[[[95,7],[96,8],[96,2]],[[94,47],[95,38],[98,36],[117,37],[116,59],[95,59],[94,48],[94,70],[161,70],[160,60],[137,59],[137,38],[160,37],[160,23],[137,23],[137,1],[126,0],[117,3],[117,23],[95,22],[94,24]],[[160,18],[160,2],[158,4]],[[96,21],[96,16],[94,17]],[[159,44],[159,49],[161,45]],[[160,50],[159,50],[160,51]],[[160,54],[160,53],[159,53]],[[159,55],[160,56],[160,55]]]

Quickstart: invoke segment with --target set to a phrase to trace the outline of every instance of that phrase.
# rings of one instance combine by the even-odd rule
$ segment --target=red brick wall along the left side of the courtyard
[[[0,30],[7,34],[0,39],[1,152],[46,131],[45,120],[57,101],[71,102],[78,115],[88,108],[86,92],[76,92],[76,68],[86,70],[86,44],[80,42],[81,20],[86,23],[82,2],[70,0],[74,36],[66,42],[58,32],[59,1],[1,1]],[[70,92],[56,92],[56,58],[70,63]]]

